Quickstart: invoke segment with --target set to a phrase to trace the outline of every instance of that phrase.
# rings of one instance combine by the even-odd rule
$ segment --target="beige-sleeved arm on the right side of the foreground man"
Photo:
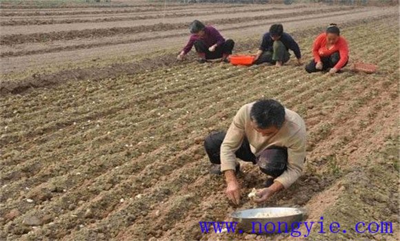
[[[281,176],[275,178],[285,189],[290,187],[303,172],[304,158],[306,158],[306,127],[303,126],[297,134],[289,140],[288,147],[288,168]]]

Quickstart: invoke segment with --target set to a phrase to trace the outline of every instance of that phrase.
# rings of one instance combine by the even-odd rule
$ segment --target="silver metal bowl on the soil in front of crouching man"
[[[304,211],[292,207],[265,207],[235,211],[230,215],[239,232],[268,234],[285,233],[296,229]]]

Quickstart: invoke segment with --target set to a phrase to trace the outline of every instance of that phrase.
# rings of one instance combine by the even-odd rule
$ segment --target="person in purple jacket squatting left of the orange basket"
[[[204,25],[199,20],[190,23],[190,36],[188,44],[183,48],[177,59],[182,60],[192,49],[193,45],[199,55],[199,63],[206,63],[208,59],[222,58],[223,62],[229,63],[228,56],[232,54],[234,41],[223,39],[223,36],[214,27]]]

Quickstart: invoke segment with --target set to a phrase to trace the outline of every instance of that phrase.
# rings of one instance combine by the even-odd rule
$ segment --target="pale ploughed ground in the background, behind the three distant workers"
[[[104,3],[102,3],[104,4]],[[114,4],[114,3],[112,3]],[[323,4],[190,5],[115,3],[102,8],[4,8],[0,17],[1,74],[6,79],[57,72],[83,65],[128,61],[158,50],[178,48],[188,40],[193,19],[212,23],[224,36],[259,38],[279,19],[286,30],[306,30],[396,14],[397,7]],[[8,6],[6,4],[6,6]],[[44,5],[46,6],[46,5]],[[122,8],[121,6],[126,6]],[[90,5],[86,6],[90,7]],[[68,67],[66,67],[68,66]],[[10,76],[9,76],[10,74]]]

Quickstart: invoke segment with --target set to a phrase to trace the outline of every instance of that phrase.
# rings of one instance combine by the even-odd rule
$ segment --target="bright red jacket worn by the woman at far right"
[[[319,34],[312,45],[312,55],[314,55],[315,63],[321,61],[321,57],[330,56],[334,52],[339,51],[340,60],[334,65],[334,68],[340,70],[348,61],[348,44],[343,36],[339,36],[339,40],[332,46],[330,50],[326,48],[326,33]]]

